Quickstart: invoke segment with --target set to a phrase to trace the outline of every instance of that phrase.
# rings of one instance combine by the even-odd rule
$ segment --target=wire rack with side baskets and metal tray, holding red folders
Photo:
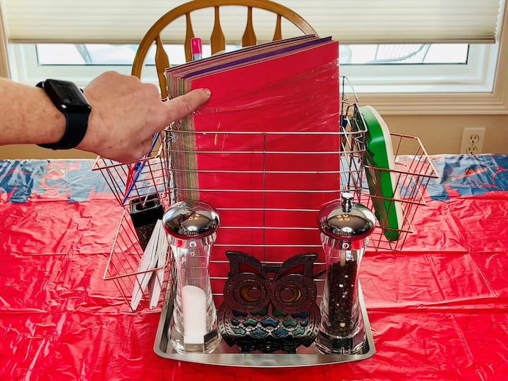
[[[93,170],[99,170],[124,209],[112,245],[104,280],[115,282],[128,308],[133,290],[146,273],[164,272],[159,287],[164,299],[155,351],[159,356],[202,363],[238,366],[301,366],[359,360],[374,354],[374,344],[363,297],[360,295],[368,342],[362,353],[349,356],[321,355],[311,346],[300,354],[226,355],[221,349],[212,355],[175,354],[167,345],[167,325],[174,296],[174,268],[171,255],[164,266],[140,271],[143,247],[129,217],[133,204],[144,205],[157,194],[164,209],[177,201],[199,199],[214,206],[221,216],[210,261],[214,301],[218,307],[228,277],[229,262],[225,251],[243,251],[267,265],[283,263],[296,254],[316,253],[314,280],[317,304],[324,279],[325,257],[317,228],[317,213],[341,192],[351,192],[354,201],[373,208],[375,199],[365,183],[365,122],[359,111],[358,97],[346,78],[341,80],[340,123],[329,130],[304,132],[193,131],[182,123],[173,123],[158,137],[155,149],[134,165],[97,158]],[[433,164],[416,137],[392,134],[397,156],[397,197],[404,223],[396,242],[385,238],[384,225],[375,229],[369,250],[396,250],[411,233],[411,222],[418,206],[425,204],[425,187],[436,177]],[[217,142],[221,144],[217,144]],[[231,143],[231,144],[230,144]],[[287,147],[292,146],[291,149]],[[220,146],[220,149],[216,147]],[[323,148],[324,147],[324,148]],[[404,153],[404,156],[400,156]],[[247,159],[248,158],[248,159]],[[400,196],[399,196],[400,194]],[[140,308],[153,306],[150,289],[143,292]],[[169,345],[170,346],[170,345]],[[216,350],[216,352],[217,352]],[[217,355],[217,356],[215,356]],[[183,356],[183,357],[182,357]],[[282,357],[280,357],[282,356]],[[297,356],[297,357],[294,357]],[[305,356],[304,358],[298,356]]]

